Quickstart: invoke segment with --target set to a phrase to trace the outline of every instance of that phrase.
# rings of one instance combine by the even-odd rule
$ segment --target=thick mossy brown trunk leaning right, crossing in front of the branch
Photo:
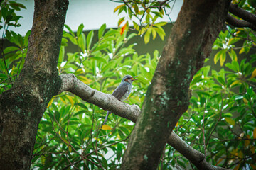
[[[121,169],[156,169],[189,104],[189,84],[223,28],[230,1],[184,1],[164,47]]]

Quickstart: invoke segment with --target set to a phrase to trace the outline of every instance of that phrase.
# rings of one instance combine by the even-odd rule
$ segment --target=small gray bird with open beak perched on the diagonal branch
[[[117,89],[114,90],[112,95],[115,98],[117,98],[119,101],[124,101],[129,96],[129,94],[131,94],[132,82],[134,80],[137,80],[137,79],[134,79],[134,78],[135,77],[132,77],[130,75],[124,76],[124,78],[122,78],[121,84],[119,84],[119,86],[117,86]],[[107,122],[107,117],[108,117],[109,114],[110,114],[110,111],[107,111],[106,118],[105,118],[104,123],[102,125],[104,125]]]

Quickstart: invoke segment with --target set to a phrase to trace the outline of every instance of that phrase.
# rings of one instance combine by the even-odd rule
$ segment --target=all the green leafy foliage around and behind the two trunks
[[[134,28],[139,34],[144,33],[144,41],[149,42],[151,35],[153,39],[156,34],[162,39],[165,35],[161,28],[165,23],[154,23],[154,18],[163,15],[161,11],[164,8],[154,11],[149,7],[159,6],[157,3],[133,1],[117,6],[114,11],[125,11],[129,18],[140,16],[141,23],[134,22]],[[254,1],[240,1],[239,6],[255,10],[252,8]],[[2,50],[0,93],[11,88],[11,83],[23,67],[30,34],[28,31],[23,38],[6,29],[7,26],[18,26],[18,18],[14,21],[14,12],[25,8],[22,4],[7,1],[1,7],[0,18],[4,19],[4,25],[0,29],[4,29],[4,38],[12,45]],[[168,4],[163,7],[168,7]],[[124,21],[125,18],[120,18],[119,26]],[[68,31],[63,32],[58,71],[60,74],[73,73],[93,89],[108,94],[118,86],[125,74],[137,75],[132,95],[125,102],[141,107],[159,60],[159,52],[155,50],[152,56],[138,55],[134,44],[129,43],[136,34],[129,33],[124,26],[106,30],[103,24],[99,30],[85,33],[81,24],[77,33],[73,33],[65,25]],[[76,52],[65,51],[70,43],[77,47]],[[256,55],[252,53],[246,59],[239,56],[250,54],[254,46],[255,36],[251,30],[228,27],[220,33],[213,45],[216,55],[209,62],[220,62],[222,68],[215,70],[205,66],[193,77],[191,105],[174,130],[188,145],[205,153],[207,161],[215,166],[256,169]],[[106,111],[85,103],[73,94],[55,96],[39,124],[31,168],[119,169],[134,124],[110,114],[107,125],[100,128],[105,114]],[[159,169],[174,167],[191,169],[191,164],[174,148],[166,145]]]

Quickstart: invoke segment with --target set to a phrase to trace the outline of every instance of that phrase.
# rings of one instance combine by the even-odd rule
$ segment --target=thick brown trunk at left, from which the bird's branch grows
[[[68,0],[36,0],[28,52],[0,96],[0,169],[29,169],[38,123],[60,80],[57,63]]]

